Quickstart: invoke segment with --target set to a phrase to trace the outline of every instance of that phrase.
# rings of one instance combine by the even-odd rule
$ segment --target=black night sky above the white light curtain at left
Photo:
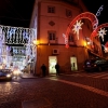
[[[35,0],[0,0],[0,25],[29,27]]]

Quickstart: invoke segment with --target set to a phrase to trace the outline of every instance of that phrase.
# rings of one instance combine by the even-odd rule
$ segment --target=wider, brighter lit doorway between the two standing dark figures
[[[49,73],[56,73],[55,65],[57,63],[56,56],[49,56]]]

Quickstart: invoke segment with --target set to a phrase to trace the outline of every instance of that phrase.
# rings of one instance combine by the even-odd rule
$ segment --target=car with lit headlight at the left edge
[[[0,69],[0,80],[12,80],[11,69]]]

